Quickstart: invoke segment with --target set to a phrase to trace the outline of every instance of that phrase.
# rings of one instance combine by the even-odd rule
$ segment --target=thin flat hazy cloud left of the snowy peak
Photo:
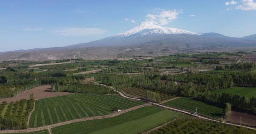
[[[53,30],[52,32],[63,36],[86,36],[93,34],[102,34],[108,30],[102,30],[100,28],[84,28],[84,27],[66,27]]]

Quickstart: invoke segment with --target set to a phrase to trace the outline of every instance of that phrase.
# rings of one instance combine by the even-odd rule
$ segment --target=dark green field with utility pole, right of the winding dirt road
[[[195,111],[197,107],[197,112],[203,115],[210,116],[212,118],[222,118],[223,108],[206,104],[201,101],[193,100],[192,98],[180,97],[178,99],[168,101],[164,103],[171,107],[181,108],[188,111]]]

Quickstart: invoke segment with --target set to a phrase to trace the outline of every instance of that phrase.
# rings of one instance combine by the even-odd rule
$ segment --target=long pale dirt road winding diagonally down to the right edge
[[[94,82],[94,83],[96,83],[96,82]],[[100,85],[107,86],[107,85],[103,85],[103,84],[100,84]],[[108,86],[108,87],[110,87],[110,86]],[[114,89],[116,91],[115,88],[113,88],[113,87],[110,87],[110,88],[112,88],[112,89]],[[137,101],[145,101],[145,100],[141,100],[141,99],[137,99],[137,98],[127,97],[127,96],[125,96],[123,93],[121,93],[119,91],[116,91],[116,92],[118,92],[122,97],[125,97],[125,98],[128,98],[128,99],[133,99],[133,100],[137,100]],[[150,101],[146,101],[146,102],[150,102]],[[180,109],[167,107],[167,106],[162,105],[162,104],[158,104],[158,103],[154,103],[154,102],[151,102],[151,103],[153,105],[155,105],[155,106],[158,106],[158,107],[161,107],[161,108],[165,108],[165,109],[169,109],[169,110],[172,110],[172,111],[181,112],[181,113],[184,113],[186,115],[190,115],[190,116],[194,116],[194,117],[197,117],[197,118],[206,119],[206,120],[213,121],[213,122],[220,122],[218,120],[214,120],[214,119],[211,119],[211,118],[207,118],[207,117],[203,117],[203,116],[199,116],[199,115],[194,115],[194,114],[191,114],[190,112],[183,111],[183,110],[180,110]],[[248,126],[243,126],[243,125],[237,125],[237,124],[233,124],[233,123],[227,123],[227,122],[220,122],[220,123],[227,124],[227,125],[235,125],[235,126],[238,126],[238,127],[244,127],[244,128],[247,128],[247,129],[254,129],[254,130],[256,130],[256,128],[252,128],[252,127],[248,127]]]

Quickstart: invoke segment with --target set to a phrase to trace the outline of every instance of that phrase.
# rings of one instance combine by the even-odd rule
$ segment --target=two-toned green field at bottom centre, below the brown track
[[[52,128],[54,134],[137,134],[171,121],[181,113],[153,106],[105,119],[77,122]]]

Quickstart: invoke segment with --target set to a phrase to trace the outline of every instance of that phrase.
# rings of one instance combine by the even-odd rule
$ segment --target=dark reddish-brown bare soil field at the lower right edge
[[[256,126],[256,115],[247,112],[231,111],[229,121],[232,123],[240,124],[240,117],[242,125]]]

